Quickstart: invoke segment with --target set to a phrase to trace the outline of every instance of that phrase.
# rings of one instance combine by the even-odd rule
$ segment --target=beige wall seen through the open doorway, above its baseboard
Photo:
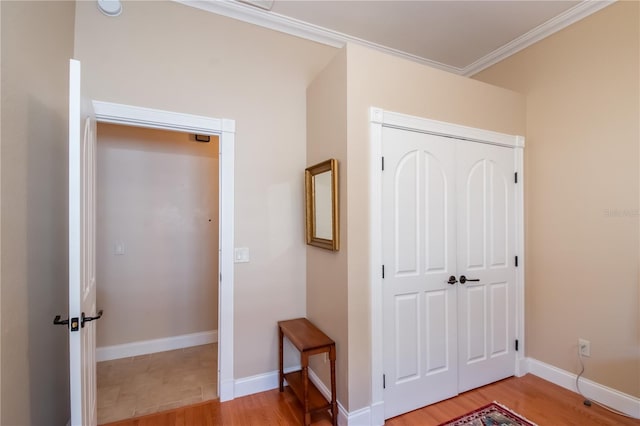
[[[98,347],[217,330],[217,138],[101,123],[97,194]]]

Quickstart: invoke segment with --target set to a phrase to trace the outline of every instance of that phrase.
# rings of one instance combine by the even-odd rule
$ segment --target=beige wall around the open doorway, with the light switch
[[[75,40],[93,99],[236,120],[234,377],[276,370],[276,322],[305,315],[305,91],[335,49],[174,2],[78,2]]]

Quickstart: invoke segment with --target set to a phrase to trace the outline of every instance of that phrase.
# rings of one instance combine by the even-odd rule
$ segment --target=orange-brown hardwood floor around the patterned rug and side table
[[[573,392],[526,375],[475,389],[455,398],[388,419],[388,426],[429,426],[461,416],[482,405],[498,401],[539,426],[639,426],[640,420],[620,417],[593,405],[586,407]],[[312,418],[314,426],[331,424],[329,415]],[[220,403],[209,401],[109,426],[191,425],[299,425],[301,408],[287,389],[277,389]]]

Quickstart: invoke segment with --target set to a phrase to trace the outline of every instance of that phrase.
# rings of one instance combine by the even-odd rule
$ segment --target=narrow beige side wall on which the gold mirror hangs
[[[347,333],[347,55],[346,50],[307,89],[307,165],[338,160],[340,251],[307,246],[307,317],[336,342],[337,398],[348,406]],[[311,368],[330,384],[329,364]]]

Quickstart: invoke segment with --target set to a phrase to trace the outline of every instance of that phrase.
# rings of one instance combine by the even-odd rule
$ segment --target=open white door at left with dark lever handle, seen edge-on
[[[95,279],[96,120],[81,90],[80,62],[69,70],[69,373],[71,424],[97,424]],[[85,316],[88,319],[85,319]]]

